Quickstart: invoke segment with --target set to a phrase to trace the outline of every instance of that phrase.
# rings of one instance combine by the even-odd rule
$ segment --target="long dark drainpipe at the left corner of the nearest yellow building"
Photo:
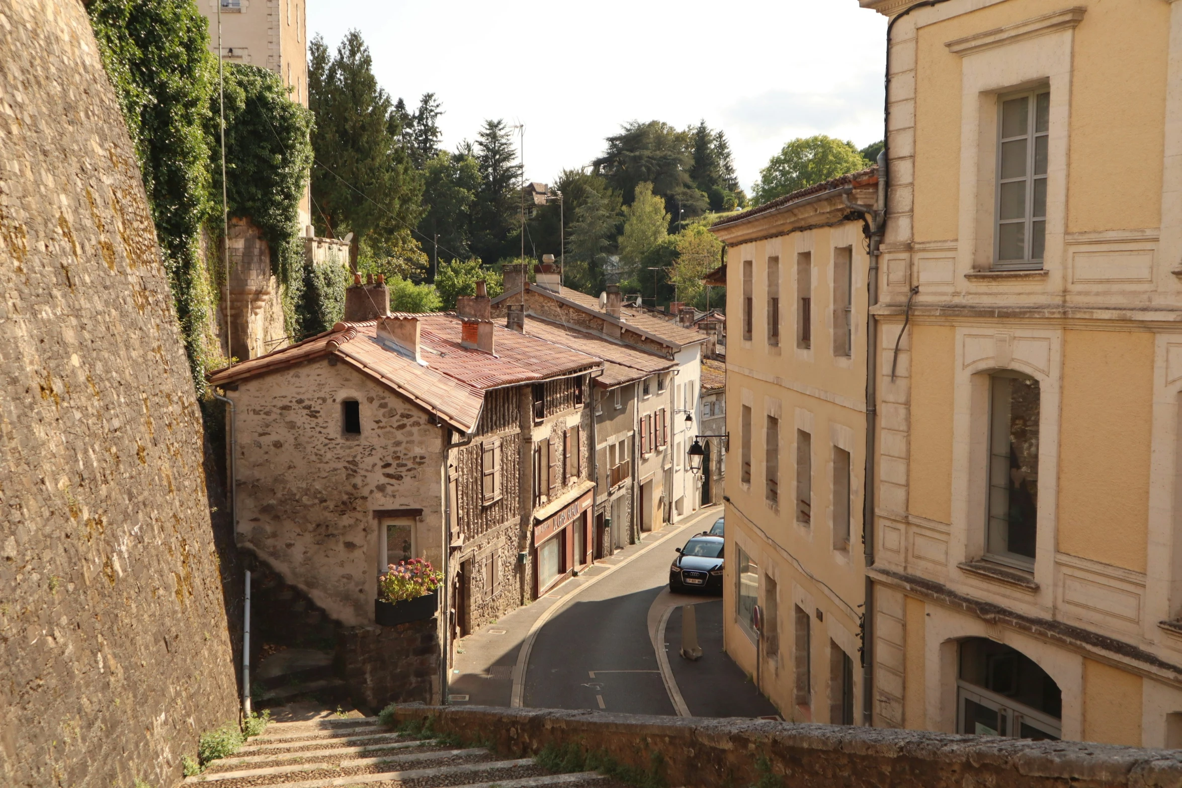
[[[866,568],[865,601],[862,613],[862,719],[875,724],[873,703],[873,642],[875,642],[875,584],[869,569],[875,564],[875,438],[878,423],[878,386],[875,376],[878,370],[878,321],[870,312],[878,304],[879,247],[886,232],[888,181],[890,178],[890,34],[897,22],[916,8],[937,6],[948,0],[921,0],[908,6],[886,24],[886,66],[883,76],[883,149],[878,154],[878,200],[875,206],[875,226],[870,235],[870,268],[866,282],[866,468],[862,506],[862,546]]]

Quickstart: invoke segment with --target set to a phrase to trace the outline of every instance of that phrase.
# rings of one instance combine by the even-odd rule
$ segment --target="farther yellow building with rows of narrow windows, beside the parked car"
[[[725,642],[785,719],[863,722],[866,275],[875,170],[712,228],[729,247]],[[762,613],[762,631],[753,621]]]

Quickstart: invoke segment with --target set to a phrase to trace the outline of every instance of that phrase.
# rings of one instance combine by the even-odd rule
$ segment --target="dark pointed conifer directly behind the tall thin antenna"
[[[485,260],[499,260],[513,249],[521,210],[521,165],[505,121],[485,121],[476,136],[480,189],[473,210],[472,249]]]

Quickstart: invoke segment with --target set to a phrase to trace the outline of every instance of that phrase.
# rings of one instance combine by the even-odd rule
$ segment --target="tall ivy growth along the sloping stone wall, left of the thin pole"
[[[216,364],[216,288],[200,254],[210,211],[209,99],[217,61],[193,0],[91,0],[99,57],[128,124],[199,393]]]

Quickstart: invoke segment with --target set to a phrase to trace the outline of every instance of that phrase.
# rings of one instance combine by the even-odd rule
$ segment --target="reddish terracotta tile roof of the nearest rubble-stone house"
[[[426,366],[379,343],[377,321],[368,320],[338,323],[332,331],[216,370],[207,377],[213,385],[222,386],[335,353],[453,426],[470,432],[480,419],[485,391],[602,365],[593,356],[501,326],[493,327],[494,354],[463,347],[460,344],[462,324],[453,313],[396,313],[394,317],[418,319],[420,354]]]

